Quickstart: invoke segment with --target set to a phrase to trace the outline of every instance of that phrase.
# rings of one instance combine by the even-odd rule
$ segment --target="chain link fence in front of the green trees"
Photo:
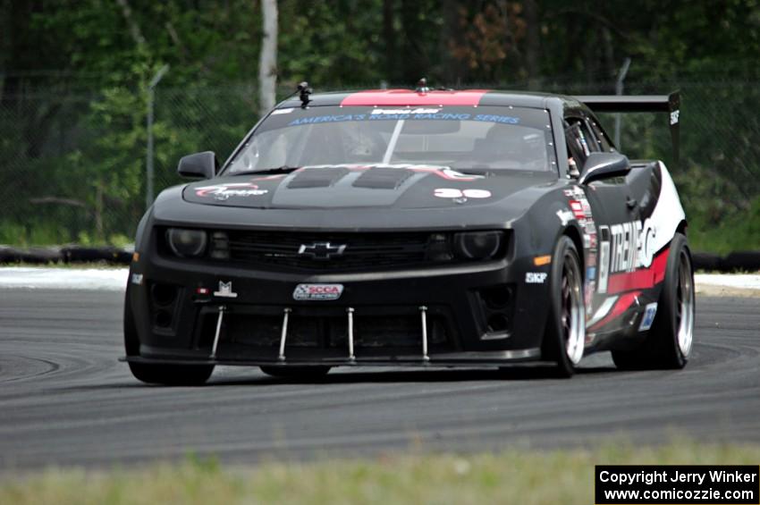
[[[693,229],[720,248],[723,223],[760,217],[758,82],[680,80],[626,83],[626,94],[681,91],[680,164],[671,158],[667,117],[625,114],[621,151],[671,167]],[[487,88],[528,88],[491,83]],[[614,82],[542,80],[530,88],[610,94]],[[323,90],[324,87],[320,87]],[[290,89],[282,89],[281,97]],[[258,119],[251,84],[156,88],[156,193],[182,180],[180,157],[213,150],[224,160]],[[146,205],[147,92],[59,89],[0,101],[0,244],[121,244],[131,241]],[[602,117],[613,135],[614,120]],[[760,226],[760,223],[756,223]],[[711,234],[712,233],[712,234]],[[755,241],[760,240],[760,230]],[[755,244],[760,248],[760,243]]]

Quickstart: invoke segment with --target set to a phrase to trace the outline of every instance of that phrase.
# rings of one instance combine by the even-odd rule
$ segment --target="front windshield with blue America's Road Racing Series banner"
[[[225,172],[326,164],[548,171],[553,161],[542,109],[318,106],[275,110]]]

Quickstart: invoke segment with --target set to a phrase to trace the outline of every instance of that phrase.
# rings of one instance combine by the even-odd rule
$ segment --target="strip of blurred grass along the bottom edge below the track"
[[[190,457],[130,469],[0,477],[0,503],[593,503],[600,464],[757,465],[760,446],[676,441],[591,450],[397,454],[224,467]]]

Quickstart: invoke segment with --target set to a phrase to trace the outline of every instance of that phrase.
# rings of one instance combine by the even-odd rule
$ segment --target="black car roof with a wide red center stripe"
[[[563,108],[577,108],[576,98],[535,93],[529,91],[499,91],[493,89],[433,89],[418,92],[412,89],[367,89],[364,91],[337,91],[314,93],[309,96],[309,106],[359,105],[359,106],[480,106],[512,105],[516,107],[547,108],[549,102],[562,102]],[[300,106],[299,97],[289,97],[276,108]]]

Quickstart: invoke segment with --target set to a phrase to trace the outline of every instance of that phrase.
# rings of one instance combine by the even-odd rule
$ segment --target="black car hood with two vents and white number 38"
[[[555,173],[492,171],[487,176],[427,164],[304,166],[287,174],[246,174],[188,184],[195,204],[250,208],[446,208],[483,206],[556,181]]]

